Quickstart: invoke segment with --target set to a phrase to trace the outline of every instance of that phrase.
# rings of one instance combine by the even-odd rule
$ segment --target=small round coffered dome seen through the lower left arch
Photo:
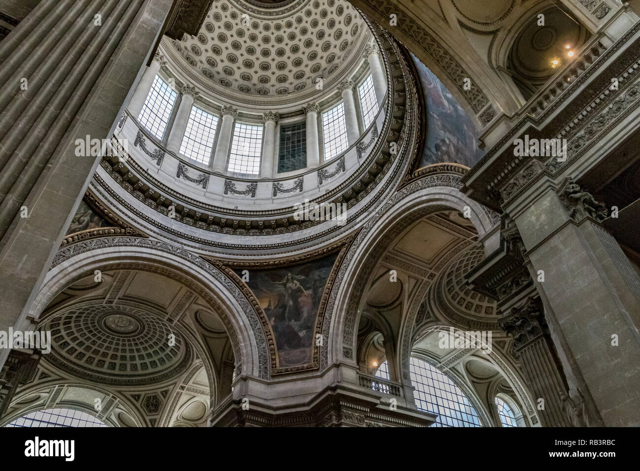
[[[52,363],[100,383],[163,381],[191,361],[182,335],[138,306],[85,302],[49,318],[44,328],[51,331]],[[169,345],[170,335],[175,345]]]

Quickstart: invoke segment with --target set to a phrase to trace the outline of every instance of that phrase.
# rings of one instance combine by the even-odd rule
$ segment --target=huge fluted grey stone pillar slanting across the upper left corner
[[[28,314],[98,165],[76,140],[112,135],[172,4],[40,2],[0,42],[0,330]]]

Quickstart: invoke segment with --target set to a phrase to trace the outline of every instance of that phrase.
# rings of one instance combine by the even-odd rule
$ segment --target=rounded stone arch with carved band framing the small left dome
[[[97,269],[150,271],[172,277],[187,286],[207,301],[222,320],[234,349],[236,367],[242,365],[246,374],[269,377],[264,333],[250,302],[216,267],[191,252],[164,242],[110,237],[60,249],[31,304],[29,315],[37,318],[58,293]]]

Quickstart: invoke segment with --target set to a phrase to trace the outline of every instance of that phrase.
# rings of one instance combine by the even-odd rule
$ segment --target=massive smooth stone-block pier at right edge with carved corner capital
[[[543,190],[515,223],[585,397],[604,426],[638,426],[640,279],[600,224],[606,212],[569,179]]]

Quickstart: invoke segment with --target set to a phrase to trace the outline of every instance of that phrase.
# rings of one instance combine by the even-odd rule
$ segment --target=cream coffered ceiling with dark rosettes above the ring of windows
[[[213,92],[305,99],[348,75],[369,37],[342,0],[214,0],[198,35],[165,45]]]

